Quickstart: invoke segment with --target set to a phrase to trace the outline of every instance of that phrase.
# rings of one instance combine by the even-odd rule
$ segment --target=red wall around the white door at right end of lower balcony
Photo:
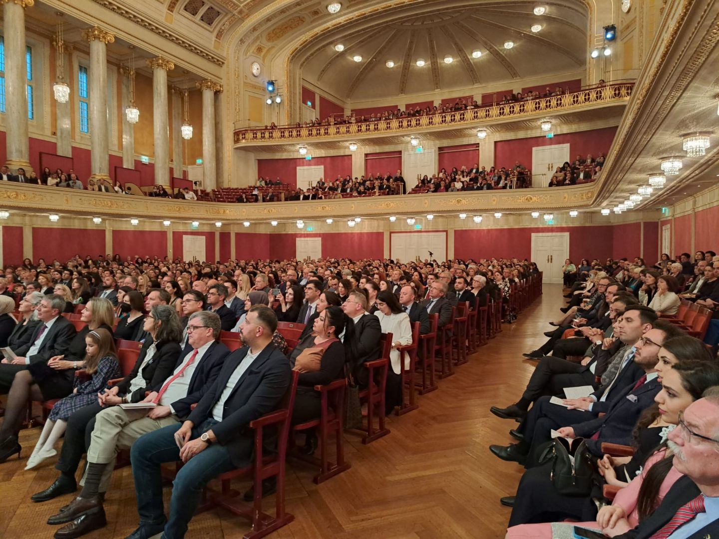
[[[604,127],[603,129],[590,129],[576,133],[555,135],[554,138],[531,137],[528,139],[500,140],[495,142],[495,167],[511,167],[516,161],[531,169],[532,148],[538,146],[553,146],[554,144],[569,144],[569,160],[579,154],[587,157],[587,154],[597,156],[599,152],[607,155],[612,145],[616,127]]]

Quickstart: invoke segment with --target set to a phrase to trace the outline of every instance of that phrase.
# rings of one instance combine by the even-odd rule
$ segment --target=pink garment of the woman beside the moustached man
[[[641,483],[644,481],[644,476],[646,476],[646,472],[649,471],[651,466],[654,466],[654,464],[661,461],[661,459],[664,459],[664,451],[664,449],[657,451],[651,455],[649,459],[646,459],[646,463],[644,463],[644,468],[642,469],[641,474],[636,476],[632,479],[631,483],[617,492],[617,495],[612,502],[612,505],[620,505],[624,508],[624,511],[628,515],[627,520],[632,528],[635,528],[639,523],[636,501],[639,495]],[[672,469],[669,470],[667,476],[664,477],[664,482],[661,483],[661,487],[659,487],[659,499],[657,500],[657,505],[661,503],[661,500],[667,495],[667,492],[669,492],[669,489],[672,488],[674,482],[676,482],[681,476],[682,474],[680,474],[679,471],[674,469],[674,466],[672,466]],[[596,521],[572,522],[572,525],[580,526],[582,528],[599,528]],[[551,523],[542,522],[541,524],[521,524],[518,526],[512,526],[511,528],[508,528],[505,539],[551,539]]]

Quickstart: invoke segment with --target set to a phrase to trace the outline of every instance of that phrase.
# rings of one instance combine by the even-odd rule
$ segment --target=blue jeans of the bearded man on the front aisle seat
[[[193,428],[192,439],[198,438],[216,423],[214,419],[203,421]],[[140,525],[161,525],[165,522],[160,464],[180,460],[180,448],[175,443],[175,433],[181,426],[182,423],[178,423],[147,433],[132,445],[130,458]],[[219,443],[214,443],[193,456],[178,471],[173,482],[170,519],[165,525],[162,537],[183,538],[200,503],[205,485],[210,479],[234,468],[229,452]]]

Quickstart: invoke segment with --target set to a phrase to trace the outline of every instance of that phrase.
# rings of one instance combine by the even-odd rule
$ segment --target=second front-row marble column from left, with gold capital
[[[107,129],[107,44],[115,37],[100,27],[86,29],[90,42],[90,178],[110,181],[110,134]]]

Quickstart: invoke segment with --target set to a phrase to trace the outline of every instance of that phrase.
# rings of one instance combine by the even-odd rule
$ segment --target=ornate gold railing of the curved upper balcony
[[[535,114],[578,111],[597,105],[626,103],[631,97],[633,83],[610,84],[587,90],[564,93],[561,96],[534,98],[477,109],[441,112],[426,116],[406,116],[394,119],[350,122],[345,124],[315,126],[280,126],[274,129],[247,128],[234,132],[234,144],[262,142],[306,142],[333,137],[362,137],[377,134],[400,134],[436,130],[445,127],[477,126],[481,122],[521,119]]]

